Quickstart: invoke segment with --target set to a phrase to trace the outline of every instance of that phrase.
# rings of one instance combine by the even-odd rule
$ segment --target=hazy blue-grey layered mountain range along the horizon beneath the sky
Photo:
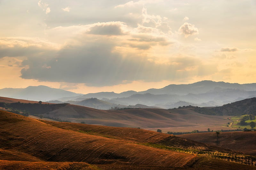
[[[25,89],[0,89],[0,96],[36,101],[54,101],[54,103],[79,103],[78,105],[109,109],[120,105],[146,105],[165,109],[179,106],[215,107],[256,97],[256,83],[238,84],[215,81],[199,81],[192,84],[170,84],[161,89],[146,91],[125,91],[122,93],[99,92],[77,94],[66,90],[46,86],[29,86]],[[101,104],[86,102],[89,98],[101,100]],[[107,105],[105,102],[107,102]]]

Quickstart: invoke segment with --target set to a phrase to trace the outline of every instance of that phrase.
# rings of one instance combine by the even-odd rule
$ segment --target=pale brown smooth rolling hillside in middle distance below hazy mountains
[[[171,112],[171,113],[170,113]],[[67,104],[44,117],[54,117],[75,123],[85,122],[117,127],[140,127],[143,129],[168,127],[222,126],[229,122],[225,117],[196,113],[193,110],[128,109],[97,110]]]

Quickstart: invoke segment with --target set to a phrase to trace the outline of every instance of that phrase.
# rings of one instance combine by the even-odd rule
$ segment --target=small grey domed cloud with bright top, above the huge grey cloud
[[[90,34],[96,35],[122,35],[122,22],[108,22],[108,23],[97,23],[93,25],[88,31]]]

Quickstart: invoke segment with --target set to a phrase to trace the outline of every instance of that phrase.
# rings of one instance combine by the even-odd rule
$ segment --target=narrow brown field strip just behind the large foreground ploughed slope
[[[181,148],[198,148],[202,150],[211,151],[222,151],[230,152],[230,150],[225,150],[220,147],[213,147],[210,145],[205,145],[204,143],[195,142],[192,140],[186,140],[183,138],[176,137],[174,135],[169,135],[165,133],[159,133],[155,131],[148,131],[137,128],[123,128],[123,127],[110,127],[110,126],[99,126],[90,124],[77,124],[77,123],[67,123],[67,122],[52,122],[52,121],[42,121],[46,124],[52,126],[67,129],[76,132],[82,132],[87,134],[92,134],[96,136],[102,136],[107,138],[115,138],[118,140],[125,140],[135,143],[157,143],[172,147]]]

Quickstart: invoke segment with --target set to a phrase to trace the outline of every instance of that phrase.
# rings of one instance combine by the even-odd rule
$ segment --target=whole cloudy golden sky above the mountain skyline
[[[0,89],[255,83],[255,0],[0,0]]]

